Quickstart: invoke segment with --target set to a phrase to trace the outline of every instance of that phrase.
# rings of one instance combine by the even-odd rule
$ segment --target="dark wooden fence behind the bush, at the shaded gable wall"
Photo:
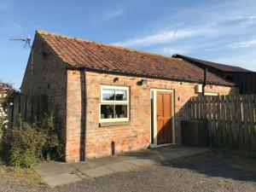
[[[17,125],[21,117],[32,123],[47,112],[47,96],[15,94],[9,107],[9,126]]]

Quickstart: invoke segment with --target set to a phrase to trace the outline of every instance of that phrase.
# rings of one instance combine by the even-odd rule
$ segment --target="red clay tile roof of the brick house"
[[[182,59],[99,44],[51,32],[37,31],[37,34],[62,61],[71,66],[198,83],[204,79],[203,69]],[[208,73],[208,83],[234,85],[213,73]]]

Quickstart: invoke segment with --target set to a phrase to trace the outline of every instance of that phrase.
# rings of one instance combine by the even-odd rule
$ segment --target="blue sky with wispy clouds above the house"
[[[20,87],[36,29],[256,71],[254,0],[0,0],[0,79]]]

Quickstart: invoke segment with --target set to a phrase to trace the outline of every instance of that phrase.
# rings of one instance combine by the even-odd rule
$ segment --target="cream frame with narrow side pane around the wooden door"
[[[150,89],[150,96],[151,96],[151,91],[153,92],[153,106],[151,106],[151,108],[154,108],[154,113],[152,114],[150,112],[150,121],[152,119],[152,115],[153,115],[153,119],[154,119],[154,134],[152,134],[152,122],[151,122],[151,126],[150,126],[150,141],[152,141],[152,137],[154,137],[154,143],[150,144],[151,148],[157,148],[157,147],[163,147],[166,145],[172,145],[175,144],[175,96],[174,96],[174,90],[163,90],[163,89]],[[171,92],[172,93],[172,143],[165,143],[165,144],[157,144],[157,92]],[[150,110],[151,111],[151,110]]]

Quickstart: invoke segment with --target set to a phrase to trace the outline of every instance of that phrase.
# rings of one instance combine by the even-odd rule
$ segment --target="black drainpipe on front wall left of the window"
[[[86,119],[87,119],[87,87],[86,87],[86,69],[81,69],[82,71],[82,82],[83,82],[83,87],[82,87],[82,104],[83,104],[83,109],[84,109],[84,114],[82,113],[82,125],[81,125],[81,160],[85,160],[85,152],[86,152]]]

